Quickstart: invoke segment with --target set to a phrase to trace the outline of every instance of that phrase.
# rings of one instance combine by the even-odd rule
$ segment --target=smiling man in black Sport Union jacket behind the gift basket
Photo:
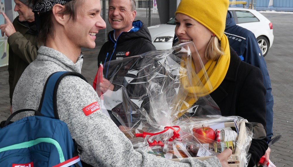
[[[108,20],[114,30],[109,32],[108,41],[100,50],[98,63],[105,64],[111,60],[156,50],[144,23],[134,21],[135,6],[134,0],[109,0]]]

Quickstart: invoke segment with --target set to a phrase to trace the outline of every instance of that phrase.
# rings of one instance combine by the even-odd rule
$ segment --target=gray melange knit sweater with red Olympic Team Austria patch
[[[83,59],[74,64],[64,54],[40,47],[37,59],[23,72],[13,94],[13,111],[32,108],[37,110],[43,87],[50,74],[56,71],[81,73]],[[79,77],[66,76],[57,91],[57,108],[60,120],[67,123],[72,138],[79,143],[83,152],[80,159],[93,166],[196,166],[220,167],[216,157],[206,161],[184,159],[174,162],[145,152],[135,151],[127,137],[114,122],[100,110],[86,116],[83,108],[100,100],[92,86]],[[22,114],[22,115],[21,115]],[[17,119],[32,115],[20,113]]]

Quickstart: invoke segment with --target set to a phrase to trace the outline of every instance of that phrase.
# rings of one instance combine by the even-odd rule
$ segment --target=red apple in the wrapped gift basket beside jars
[[[213,142],[213,140],[215,140],[215,131],[210,127],[202,126],[201,128],[193,128],[192,131],[194,136],[200,143],[211,143]],[[196,134],[200,134],[201,136]]]

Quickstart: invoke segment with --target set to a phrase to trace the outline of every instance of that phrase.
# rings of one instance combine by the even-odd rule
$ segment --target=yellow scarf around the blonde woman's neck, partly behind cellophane
[[[180,71],[180,90],[183,91],[178,92],[176,99],[177,109],[180,108],[177,117],[183,115],[198,98],[216,90],[224,80],[230,63],[230,49],[226,35],[221,38],[221,47],[224,49],[224,54],[217,61],[209,60],[197,74],[194,72],[193,62],[191,62],[193,72],[186,71],[188,69],[186,59],[181,62],[183,70]]]

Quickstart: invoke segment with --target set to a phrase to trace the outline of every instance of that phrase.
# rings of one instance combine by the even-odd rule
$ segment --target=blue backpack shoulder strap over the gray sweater
[[[58,71],[51,74],[45,83],[42,98],[38,108],[38,111],[40,111],[45,117],[59,119],[57,111],[57,89],[61,80],[68,75],[78,76],[86,81],[84,76],[77,72]],[[52,113],[52,111],[54,112]]]

